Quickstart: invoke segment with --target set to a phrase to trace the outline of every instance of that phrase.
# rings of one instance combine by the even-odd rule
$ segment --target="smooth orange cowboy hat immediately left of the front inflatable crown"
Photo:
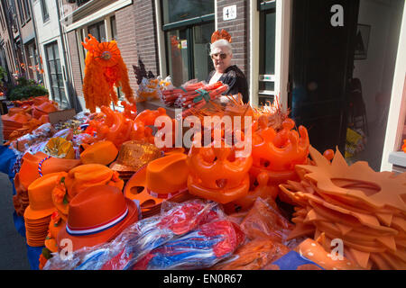
[[[125,197],[140,202],[143,212],[161,202],[184,194],[188,189],[187,156],[174,153],[143,166],[125,185]]]

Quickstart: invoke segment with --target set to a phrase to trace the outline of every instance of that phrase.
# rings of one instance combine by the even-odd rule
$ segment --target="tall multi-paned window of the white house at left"
[[[68,108],[69,103],[65,94],[64,77],[60,65],[60,51],[57,41],[45,45],[45,56],[47,58],[52,99],[58,102],[62,109]]]

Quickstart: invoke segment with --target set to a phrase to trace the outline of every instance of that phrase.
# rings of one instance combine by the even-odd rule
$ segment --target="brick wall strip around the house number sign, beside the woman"
[[[223,20],[223,8],[236,4],[237,15],[234,20]],[[217,0],[217,29],[225,29],[233,38],[233,63],[239,67],[248,79],[249,50],[249,4],[245,0]]]

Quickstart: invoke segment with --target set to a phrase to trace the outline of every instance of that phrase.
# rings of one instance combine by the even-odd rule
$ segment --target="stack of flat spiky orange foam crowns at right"
[[[315,148],[314,165],[298,165],[300,182],[280,188],[296,207],[290,238],[313,236],[326,250],[341,239],[344,256],[364,269],[406,269],[406,173],[374,172],[366,162],[331,163]]]

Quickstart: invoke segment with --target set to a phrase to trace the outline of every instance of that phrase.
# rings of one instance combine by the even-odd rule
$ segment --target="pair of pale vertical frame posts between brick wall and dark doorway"
[[[291,48],[291,0],[274,0],[276,5],[275,26],[275,86],[274,94],[279,95],[283,111],[288,110],[289,58]],[[260,63],[260,11],[259,1],[250,5],[250,103],[258,106],[259,63]]]

